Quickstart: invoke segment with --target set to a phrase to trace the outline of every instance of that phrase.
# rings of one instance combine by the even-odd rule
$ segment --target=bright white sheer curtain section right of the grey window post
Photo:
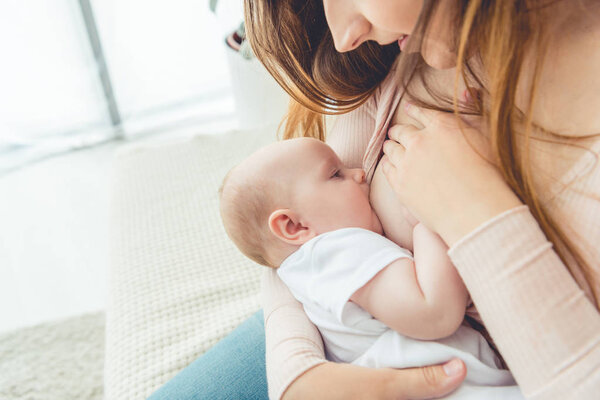
[[[232,121],[224,29],[241,21],[242,3],[223,3],[216,18],[208,0],[92,1],[126,135]]]

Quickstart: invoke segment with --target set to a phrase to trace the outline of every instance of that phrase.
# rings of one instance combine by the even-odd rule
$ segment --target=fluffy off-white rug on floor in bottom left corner
[[[101,400],[104,313],[0,335],[0,399]]]

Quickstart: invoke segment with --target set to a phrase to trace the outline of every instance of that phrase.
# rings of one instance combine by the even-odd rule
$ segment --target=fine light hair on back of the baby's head
[[[239,176],[232,168],[219,188],[221,219],[227,235],[254,262],[276,267],[268,261],[267,249],[274,241],[269,231],[277,182],[265,177]],[[245,179],[244,179],[245,178]]]

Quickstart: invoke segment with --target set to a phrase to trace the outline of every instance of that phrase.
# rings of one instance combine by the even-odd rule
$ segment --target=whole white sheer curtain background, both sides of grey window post
[[[88,0],[83,0],[88,1]],[[79,0],[0,2],[0,172],[170,126],[231,124],[223,48],[241,0],[91,0],[115,126]]]

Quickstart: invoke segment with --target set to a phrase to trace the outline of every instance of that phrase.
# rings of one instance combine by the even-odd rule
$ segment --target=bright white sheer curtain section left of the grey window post
[[[108,134],[77,1],[2,0],[0,52],[0,168]]]

